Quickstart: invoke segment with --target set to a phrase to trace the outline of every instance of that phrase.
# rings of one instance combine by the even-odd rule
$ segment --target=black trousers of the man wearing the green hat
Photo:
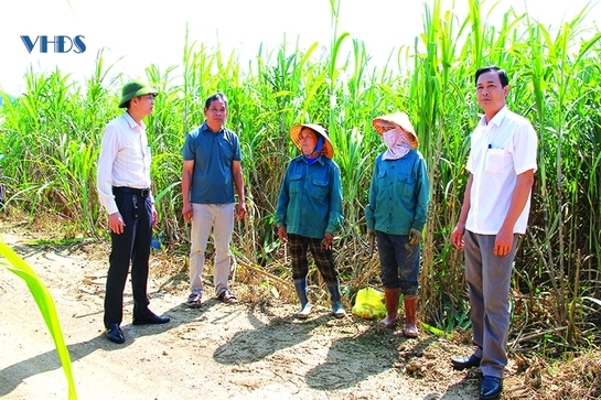
[[[125,227],[121,235],[110,233],[111,249],[105,294],[105,326],[121,324],[124,290],[131,261],[133,315],[148,311],[148,258],[152,239],[152,206],[149,197],[115,192],[115,201]]]

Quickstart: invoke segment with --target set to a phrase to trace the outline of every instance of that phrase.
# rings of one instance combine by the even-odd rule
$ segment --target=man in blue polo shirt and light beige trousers
[[[203,295],[202,272],[205,249],[213,229],[215,240],[215,294],[226,303],[235,303],[228,278],[229,242],[234,217],[246,214],[244,177],[240,165],[240,143],[236,133],[224,127],[227,97],[215,94],[205,101],[204,123],[187,133],[183,145],[182,214],[192,224],[190,247],[190,285],[187,305],[200,307]],[[238,194],[235,210],[234,187]]]

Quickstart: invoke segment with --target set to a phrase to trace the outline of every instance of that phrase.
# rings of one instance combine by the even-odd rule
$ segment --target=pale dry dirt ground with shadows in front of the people
[[[151,256],[150,309],[165,325],[131,325],[126,287],[126,343],[104,336],[104,279],[108,244],[31,245],[51,234],[25,221],[0,219],[1,240],[39,274],[54,296],[79,399],[477,399],[476,368],[452,370],[449,358],[471,346],[425,333],[407,339],[400,327],[352,315],[337,320],[328,304],[301,322],[294,301],[254,300],[240,293],[224,304],[205,288],[192,310],[186,266]],[[206,282],[211,275],[206,275]],[[0,268],[0,397],[66,399],[67,383],[53,340],[24,281]],[[505,388],[511,391],[512,365]]]

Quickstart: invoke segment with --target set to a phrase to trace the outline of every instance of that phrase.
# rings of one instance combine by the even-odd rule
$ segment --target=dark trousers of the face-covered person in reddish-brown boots
[[[408,235],[388,235],[379,230],[376,235],[384,288],[400,288],[403,294],[417,294],[420,245],[409,245]]]

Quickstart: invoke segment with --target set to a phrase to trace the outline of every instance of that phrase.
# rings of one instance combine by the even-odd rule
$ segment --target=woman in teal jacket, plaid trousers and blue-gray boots
[[[334,316],[343,317],[339,274],[334,266],[332,240],[342,228],[342,183],[340,167],[332,160],[330,138],[319,125],[292,127],[290,138],[302,154],[293,159],[281,184],[275,223],[282,242],[288,242],[292,278],[301,303],[297,313],[307,318],[311,312],[307,293],[310,250],[332,301]]]

